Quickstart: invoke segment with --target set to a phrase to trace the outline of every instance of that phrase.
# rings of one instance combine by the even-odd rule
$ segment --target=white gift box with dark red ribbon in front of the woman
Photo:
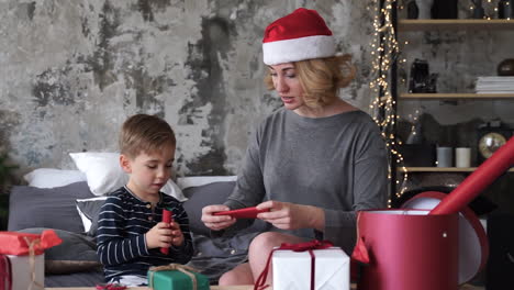
[[[338,247],[272,254],[273,290],[347,290],[349,257]]]

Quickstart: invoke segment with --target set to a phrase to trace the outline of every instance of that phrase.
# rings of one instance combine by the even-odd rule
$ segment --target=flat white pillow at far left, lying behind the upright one
[[[30,187],[55,188],[69,183],[86,181],[86,175],[80,170],[64,170],[57,168],[37,168],[23,176]]]

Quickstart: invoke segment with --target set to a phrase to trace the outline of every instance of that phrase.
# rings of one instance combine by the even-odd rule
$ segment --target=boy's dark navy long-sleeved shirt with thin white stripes
[[[159,192],[160,200],[152,209],[126,187],[111,193],[102,205],[98,220],[97,254],[103,264],[105,280],[114,277],[138,276],[145,278],[148,268],[170,263],[186,264],[193,254],[189,220],[182,204],[175,198]],[[163,209],[172,211],[172,219],[180,224],[183,244],[171,246],[164,255],[159,248],[148,249],[145,234],[163,220]]]

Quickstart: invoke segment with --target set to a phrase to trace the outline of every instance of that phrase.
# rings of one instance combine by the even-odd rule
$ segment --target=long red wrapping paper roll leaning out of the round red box
[[[496,178],[514,165],[514,137],[500,147],[474,172],[468,176],[454,191],[434,208],[429,214],[459,212],[480,194]]]

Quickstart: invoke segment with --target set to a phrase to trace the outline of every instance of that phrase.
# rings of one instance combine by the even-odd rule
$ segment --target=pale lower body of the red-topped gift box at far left
[[[45,254],[31,256],[7,255],[11,261],[12,289],[44,289]]]

